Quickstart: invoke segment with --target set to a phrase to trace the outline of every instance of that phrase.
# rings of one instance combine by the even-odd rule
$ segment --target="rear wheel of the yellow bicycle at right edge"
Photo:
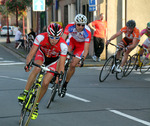
[[[141,67],[140,67],[140,72],[142,73],[142,74],[144,74],[145,72],[147,72],[149,69],[150,69],[150,60],[149,59],[144,59],[143,61],[142,61],[142,64],[141,64]]]

